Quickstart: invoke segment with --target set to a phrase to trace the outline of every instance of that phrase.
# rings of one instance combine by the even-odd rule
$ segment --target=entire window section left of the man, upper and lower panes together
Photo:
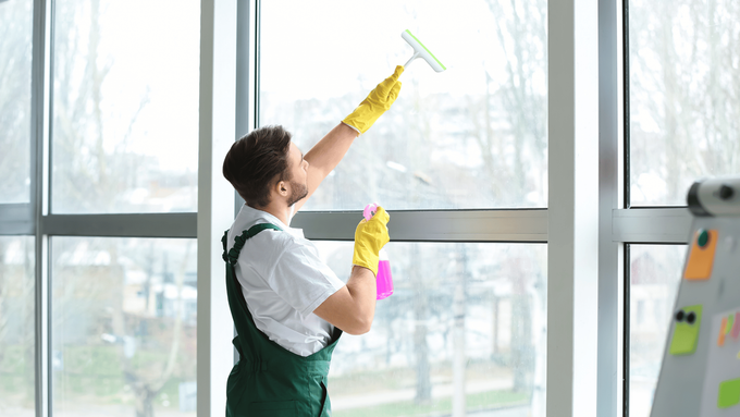
[[[196,414],[199,20],[0,1],[3,416]]]

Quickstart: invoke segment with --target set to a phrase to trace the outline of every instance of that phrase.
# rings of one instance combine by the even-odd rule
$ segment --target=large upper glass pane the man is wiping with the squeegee
[[[447,68],[409,64],[391,111],[306,209],[545,207],[546,9],[546,0],[263,1],[260,124],[285,126],[304,151],[414,54],[403,30]]]

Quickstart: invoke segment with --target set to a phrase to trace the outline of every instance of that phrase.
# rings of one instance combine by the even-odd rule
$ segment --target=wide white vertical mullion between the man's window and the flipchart
[[[548,416],[597,414],[599,3],[547,2]]]

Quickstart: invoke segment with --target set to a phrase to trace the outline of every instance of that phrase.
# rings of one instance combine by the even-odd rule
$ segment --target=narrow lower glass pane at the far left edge
[[[36,416],[34,263],[33,237],[0,236],[0,415],[8,417]]]

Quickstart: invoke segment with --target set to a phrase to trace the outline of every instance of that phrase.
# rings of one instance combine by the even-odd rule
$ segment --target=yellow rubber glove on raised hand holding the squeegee
[[[398,97],[400,91],[398,77],[403,72],[404,68],[397,65],[393,75],[378,84],[368,97],[357,106],[357,109],[344,118],[342,122],[356,130],[360,135],[367,132],[378,118],[385,113],[391,108],[391,105],[396,101],[396,97]]]

